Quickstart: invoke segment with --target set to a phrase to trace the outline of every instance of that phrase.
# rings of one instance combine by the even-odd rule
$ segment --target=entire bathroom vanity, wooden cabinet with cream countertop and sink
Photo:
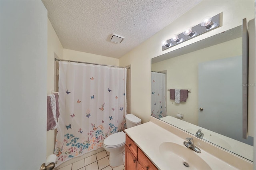
[[[253,169],[253,162],[154,117],[125,132],[126,170]],[[193,138],[201,153],[184,146],[186,138]]]

